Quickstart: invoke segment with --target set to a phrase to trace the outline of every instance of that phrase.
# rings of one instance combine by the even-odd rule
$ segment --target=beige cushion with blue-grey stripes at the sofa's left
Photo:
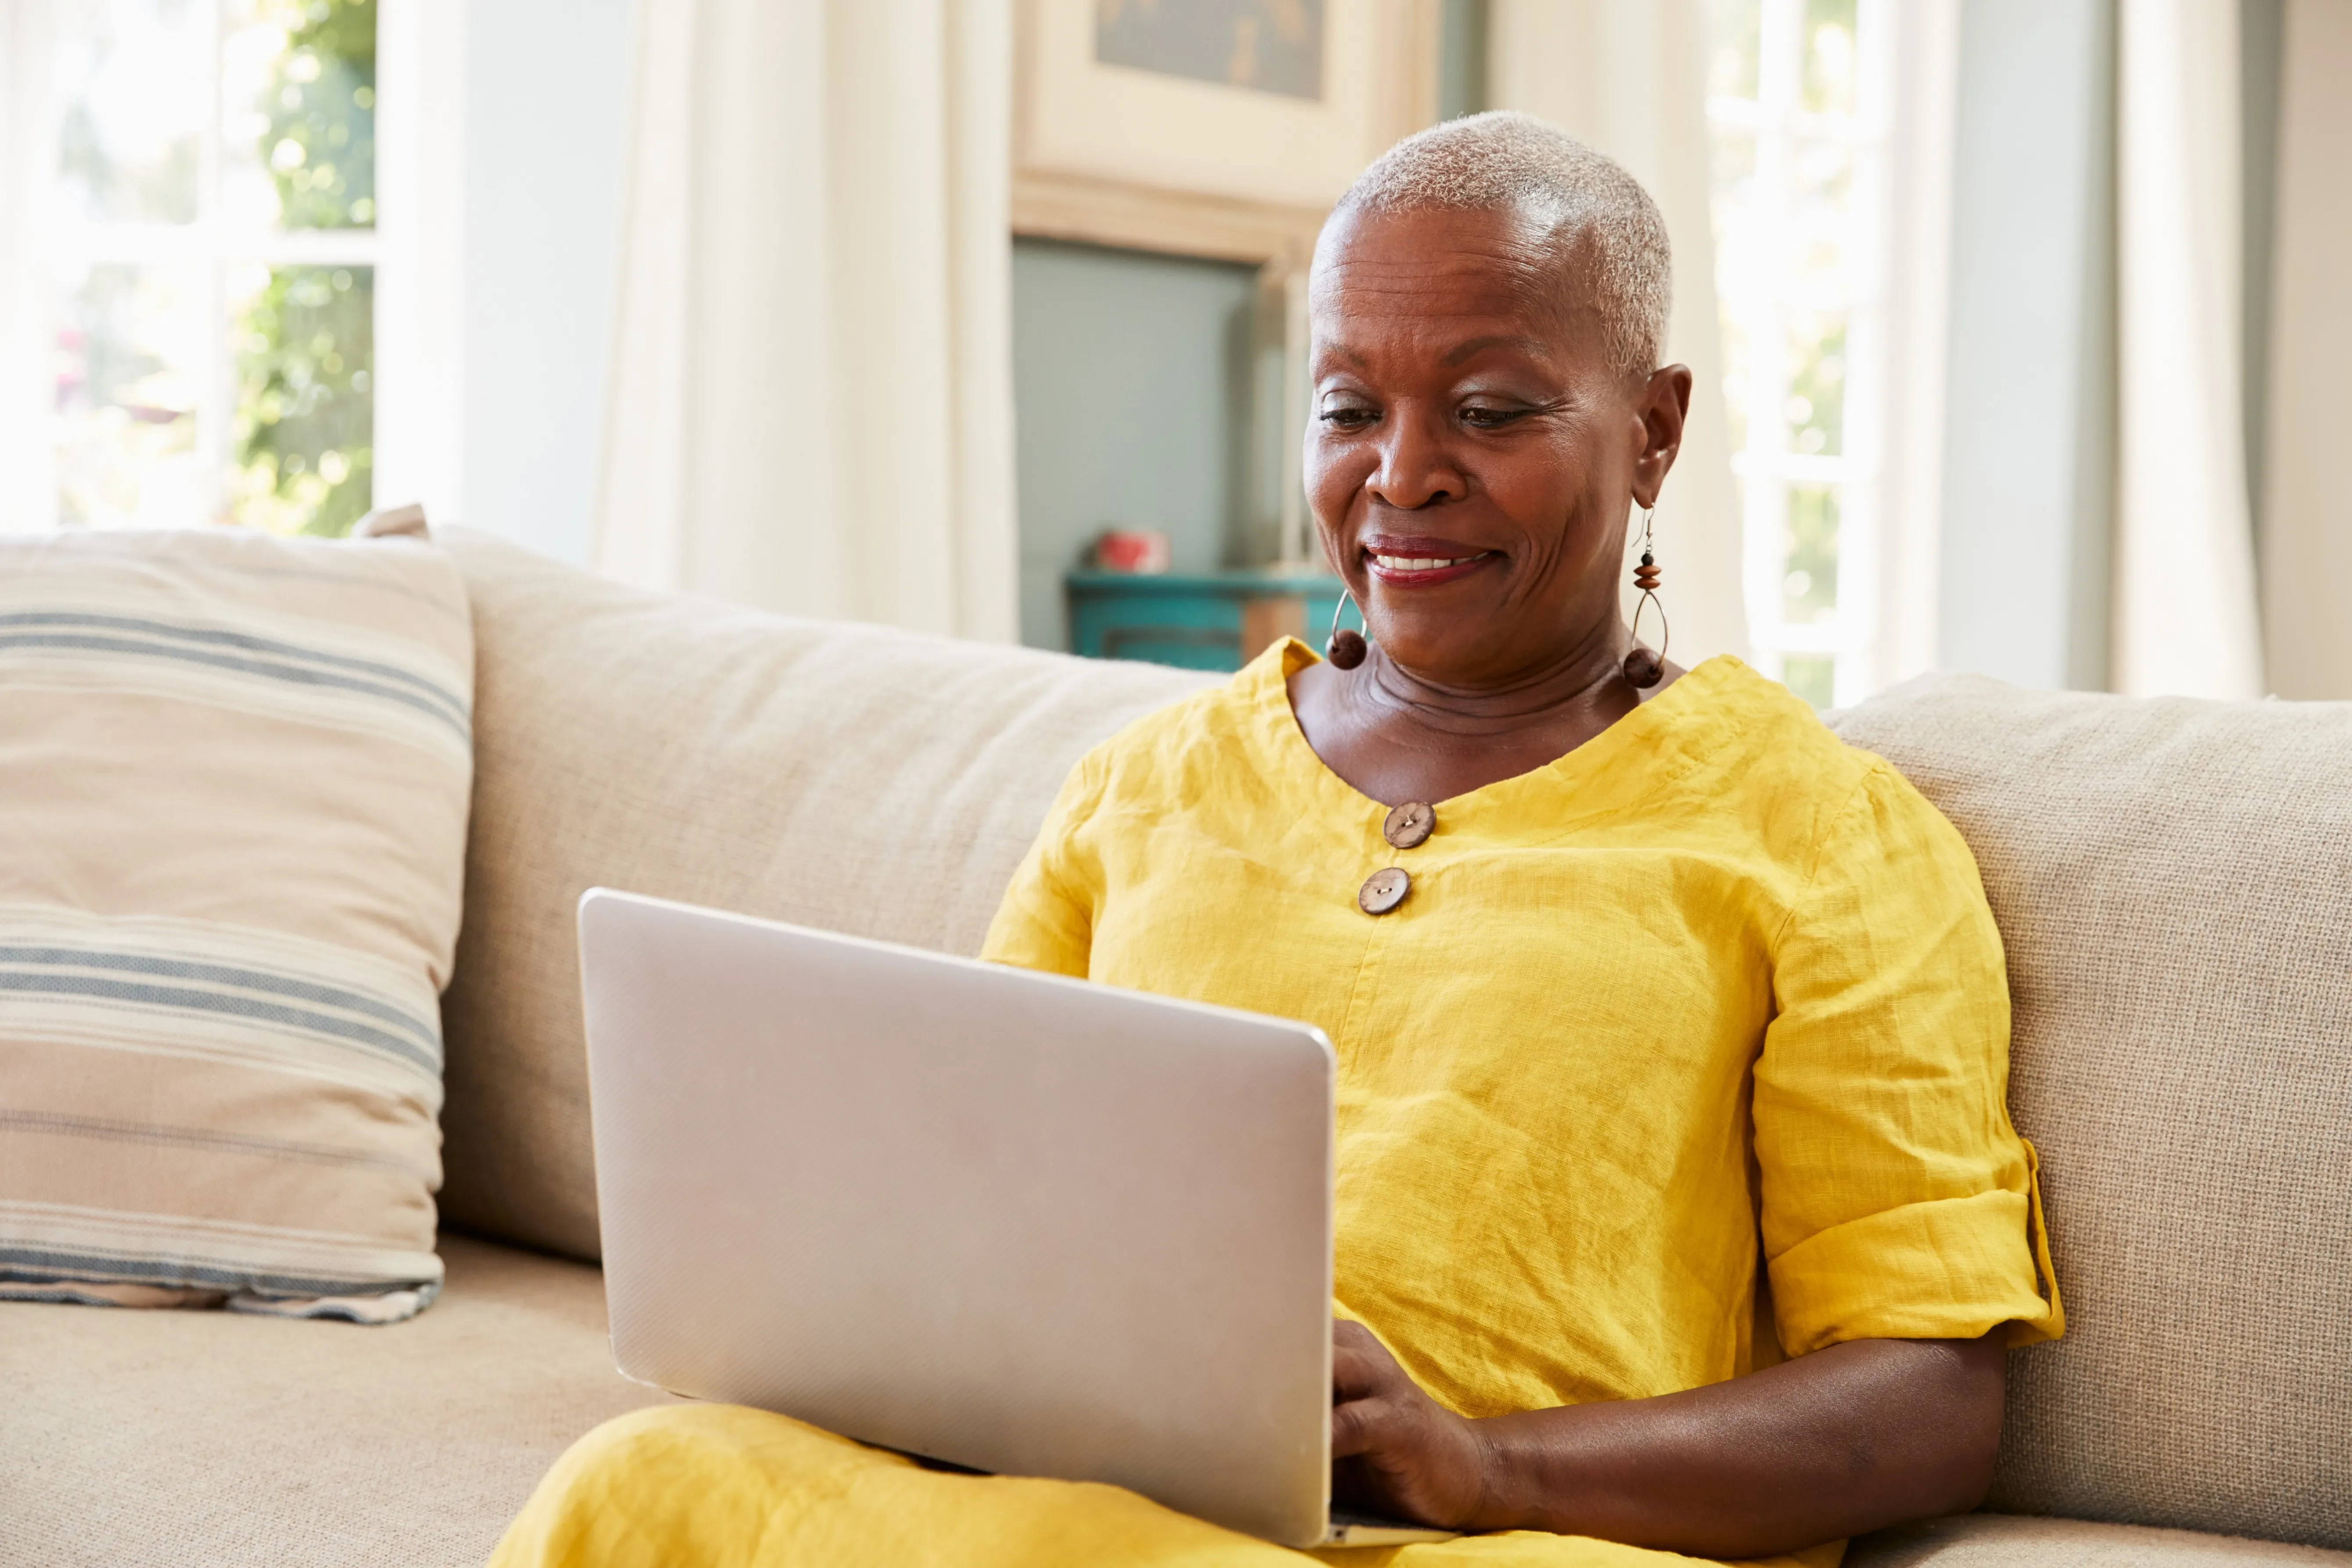
[[[470,726],[430,543],[0,538],[0,1295],[433,1300]]]

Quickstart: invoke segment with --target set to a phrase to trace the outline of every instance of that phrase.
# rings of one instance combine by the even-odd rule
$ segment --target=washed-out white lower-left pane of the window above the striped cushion
[[[80,527],[205,522],[205,270],[92,266],[56,299],[56,508]]]

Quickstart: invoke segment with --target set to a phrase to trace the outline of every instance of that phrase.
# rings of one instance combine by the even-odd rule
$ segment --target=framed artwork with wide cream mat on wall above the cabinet
[[[1439,0],[1023,0],[1014,230],[1303,266],[1437,118]]]

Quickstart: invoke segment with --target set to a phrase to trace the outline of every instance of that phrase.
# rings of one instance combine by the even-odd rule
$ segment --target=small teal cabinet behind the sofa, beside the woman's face
[[[1073,571],[1068,585],[1075,654],[1185,670],[1240,670],[1282,637],[1319,649],[1341,597],[1336,576],[1284,571]]]

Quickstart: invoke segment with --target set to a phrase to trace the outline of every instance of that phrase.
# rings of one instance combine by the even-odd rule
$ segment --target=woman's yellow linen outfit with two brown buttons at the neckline
[[[985,957],[1319,1025],[1336,1291],[1463,1415],[1637,1399],[1856,1338],[2063,1331],[2009,992],[1966,844],[1891,766],[1712,658],[1550,766],[1381,837],[1270,649],[1096,748]],[[1390,914],[1364,877],[1411,875]],[[1762,1269],[1759,1269],[1762,1265]],[[1329,1556],[1684,1561],[1505,1533]],[[1837,1549],[1802,1561],[1835,1561]],[[946,1476],[779,1415],[579,1443],[501,1568],[1279,1563],[1115,1488]]]

